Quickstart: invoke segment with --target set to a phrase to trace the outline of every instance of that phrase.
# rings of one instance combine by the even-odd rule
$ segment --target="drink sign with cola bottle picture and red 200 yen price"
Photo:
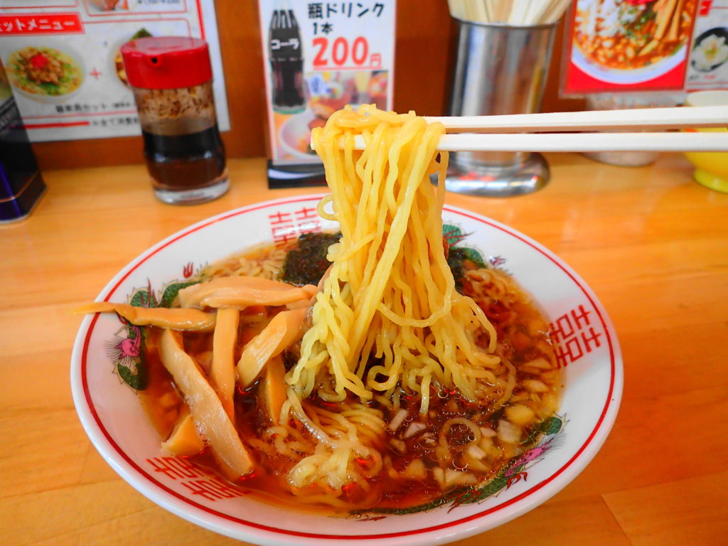
[[[260,0],[259,7],[272,165],[282,178],[303,179],[320,163],[310,149],[313,127],[347,104],[392,109],[395,1]],[[310,168],[293,167],[301,164]],[[269,170],[271,181],[276,175]]]

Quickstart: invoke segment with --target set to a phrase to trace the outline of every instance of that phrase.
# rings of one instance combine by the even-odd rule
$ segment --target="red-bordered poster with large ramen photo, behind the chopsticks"
[[[682,90],[705,0],[575,0],[562,67],[565,95]]]

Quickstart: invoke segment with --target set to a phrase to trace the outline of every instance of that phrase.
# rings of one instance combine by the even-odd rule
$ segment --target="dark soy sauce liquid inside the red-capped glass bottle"
[[[201,188],[225,172],[225,149],[217,125],[186,135],[142,131],[149,174],[166,189]]]

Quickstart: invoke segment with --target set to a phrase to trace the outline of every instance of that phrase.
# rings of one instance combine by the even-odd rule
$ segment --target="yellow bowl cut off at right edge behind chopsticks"
[[[728,106],[728,91],[697,91],[687,95],[687,106]],[[728,132],[728,128],[689,129],[700,132]],[[695,165],[692,177],[706,188],[728,193],[728,152],[686,152],[687,160]]]

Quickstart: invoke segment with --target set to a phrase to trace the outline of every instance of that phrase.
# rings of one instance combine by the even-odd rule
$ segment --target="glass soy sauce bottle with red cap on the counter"
[[[183,36],[122,45],[154,194],[172,205],[216,199],[229,188],[207,42]]]

